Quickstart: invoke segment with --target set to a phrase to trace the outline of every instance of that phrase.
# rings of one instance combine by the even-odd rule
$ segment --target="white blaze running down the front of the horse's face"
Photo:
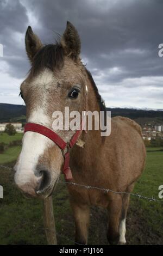
[[[53,73],[49,70],[45,70],[33,80],[32,86],[41,90],[41,100],[38,102],[36,108],[30,113],[27,120],[28,123],[36,123],[44,126],[51,124],[51,120],[46,114],[45,106],[47,99],[46,95],[43,95],[43,92],[45,91],[44,87],[50,86],[51,82],[54,82],[54,79]],[[34,175],[39,157],[43,155],[48,147],[52,147],[53,145],[54,142],[52,142],[51,139],[39,133],[26,132],[24,134],[22,151],[15,166],[15,182],[18,186],[29,183],[32,179],[35,179],[35,183],[39,182],[40,178]]]

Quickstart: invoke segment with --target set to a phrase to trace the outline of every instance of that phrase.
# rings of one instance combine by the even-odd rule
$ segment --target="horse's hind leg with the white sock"
[[[131,184],[126,192],[130,193],[134,188],[134,184]],[[120,239],[119,239],[119,244],[124,245],[126,243],[126,216],[127,216],[127,210],[128,210],[128,205],[129,205],[129,200],[130,200],[130,195],[129,194],[123,194],[122,197],[122,212],[121,212],[121,221],[120,221],[120,227],[119,227],[119,232],[120,232]]]

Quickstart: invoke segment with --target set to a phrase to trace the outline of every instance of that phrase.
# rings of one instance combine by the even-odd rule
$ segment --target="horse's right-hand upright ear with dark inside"
[[[73,60],[77,60],[79,58],[81,49],[79,34],[76,28],[69,21],[67,21],[66,30],[62,35],[60,42],[64,48],[66,56],[70,56]]]

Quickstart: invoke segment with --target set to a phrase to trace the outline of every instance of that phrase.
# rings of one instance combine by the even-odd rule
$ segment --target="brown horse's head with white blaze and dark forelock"
[[[78,32],[67,22],[59,43],[42,45],[40,39],[28,27],[26,50],[32,68],[21,84],[21,96],[27,107],[27,122],[52,128],[54,111],[64,115],[65,106],[82,113],[86,106],[86,73],[80,60]],[[70,141],[74,131],[55,131]],[[22,151],[17,159],[15,182],[30,196],[47,197],[53,190],[64,163],[61,149],[51,139],[26,132]],[[38,193],[39,192],[39,193]]]

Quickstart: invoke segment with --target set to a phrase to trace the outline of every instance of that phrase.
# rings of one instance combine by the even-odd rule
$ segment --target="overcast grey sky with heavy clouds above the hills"
[[[48,44],[68,20],[106,106],[163,108],[162,15],[162,0],[0,0],[0,102],[23,104],[28,25]]]

